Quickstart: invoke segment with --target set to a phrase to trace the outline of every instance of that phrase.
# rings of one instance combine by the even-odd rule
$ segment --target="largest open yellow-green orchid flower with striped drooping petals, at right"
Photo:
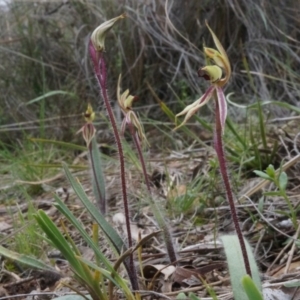
[[[220,121],[222,132],[224,133],[225,121],[227,117],[227,103],[222,88],[230,79],[231,67],[228,60],[228,56],[219,39],[209,27],[207,22],[206,26],[212,35],[217,50],[204,47],[205,55],[214,64],[200,68],[198,71],[198,75],[199,77],[203,77],[205,80],[209,80],[211,82],[211,85],[206,90],[204,95],[202,95],[198,100],[188,105],[183,111],[176,115],[176,118],[182,115],[185,115],[185,118],[183,122],[175,128],[175,130],[183,126],[199,110],[200,107],[205,105],[212,98],[213,95],[216,95],[218,106],[218,116],[216,117]]]

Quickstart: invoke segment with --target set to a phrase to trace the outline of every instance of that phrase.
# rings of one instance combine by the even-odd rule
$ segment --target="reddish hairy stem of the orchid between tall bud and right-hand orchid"
[[[133,141],[135,143],[135,147],[137,149],[138,156],[139,156],[139,159],[141,162],[142,171],[143,171],[144,178],[145,178],[145,183],[146,183],[146,186],[147,186],[147,189],[149,192],[149,196],[150,196],[150,206],[153,210],[153,214],[158,222],[159,227],[163,231],[163,236],[164,236],[164,240],[165,240],[165,244],[166,244],[170,262],[175,264],[175,262],[177,261],[177,256],[176,256],[176,252],[175,252],[174,245],[172,242],[172,236],[170,234],[170,231],[168,229],[168,226],[164,220],[164,217],[163,217],[161,211],[157,207],[155,200],[152,199],[152,197],[151,197],[152,192],[151,192],[151,188],[150,188],[149,178],[148,178],[148,174],[147,174],[147,170],[146,170],[145,159],[144,159],[144,155],[143,155],[143,152],[141,149],[141,143],[140,143],[139,137],[138,137],[136,131],[134,130],[132,123],[129,122],[128,125],[129,125],[130,134],[133,137]]]

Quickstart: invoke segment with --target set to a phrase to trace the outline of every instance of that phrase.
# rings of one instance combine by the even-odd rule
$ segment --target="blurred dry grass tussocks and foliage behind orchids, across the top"
[[[203,45],[213,46],[207,20],[232,64],[226,93],[242,104],[257,100],[300,106],[299,0],[15,1],[0,9],[0,135],[69,141],[88,102],[103,109],[87,41],[103,21],[126,12],[106,41],[108,91],[138,95],[143,114],[168,120],[154,93],[178,112],[207,86],[197,76]],[[152,92],[150,91],[152,89]],[[231,110],[234,114],[234,110]],[[273,108],[282,116],[282,108]],[[240,116],[236,115],[236,119]],[[43,128],[41,132],[41,128]]]

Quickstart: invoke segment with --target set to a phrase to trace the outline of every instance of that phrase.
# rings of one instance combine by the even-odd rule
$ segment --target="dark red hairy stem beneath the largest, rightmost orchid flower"
[[[219,160],[220,172],[221,172],[221,176],[222,176],[222,179],[223,179],[223,182],[225,185],[227,200],[228,200],[229,206],[230,206],[232,220],[233,220],[235,231],[237,233],[237,237],[239,239],[239,243],[240,243],[241,250],[243,253],[245,269],[246,269],[247,274],[251,277],[251,268],[250,268],[250,263],[249,263],[249,257],[248,257],[248,253],[246,250],[244,237],[243,237],[240,225],[239,225],[238,216],[237,216],[234,199],[233,199],[233,194],[232,194],[232,189],[231,189],[228,172],[227,172],[227,165],[226,165],[225,153],[224,153],[224,147],[223,147],[222,126],[221,126],[221,120],[220,120],[220,108],[219,108],[218,100],[216,100],[216,132],[215,132],[214,142],[215,142],[215,150],[217,152],[217,156],[218,156],[218,160]]]

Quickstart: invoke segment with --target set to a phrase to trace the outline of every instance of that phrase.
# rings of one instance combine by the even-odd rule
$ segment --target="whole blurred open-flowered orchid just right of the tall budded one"
[[[177,263],[177,256],[176,256],[176,251],[174,249],[174,245],[172,242],[172,236],[170,234],[169,228],[167,226],[167,223],[164,219],[164,216],[156,204],[155,200],[152,198],[152,193],[151,193],[151,188],[150,188],[150,182],[146,170],[146,163],[145,159],[143,156],[143,151],[142,147],[143,146],[148,146],[148,141],[146,139],[145,133],[143,126],[141,122],[139,121],[137,115],[135,112],[132,110],[132,104],[135,101],[136,97],[129,95],[129,90],[125,90],[121,94],[121,75],[119,76],[119,81],[118,81],[118,88],[117,88],[117,97],[118,97],[118,102],[119,106],[124,114],[124,120],[122,122],[122,134],[124,134],[126,126],[129,128],[129,132],[132,136],[132,139],[134,141],[136,150],[138,152],[138,157],[141,162],[142,166],[142,172],[144,175],[145,179],[145,184],[149,193],[149,204],[151,206],[152,212],[154,214],[154,217],[162,230],[163,236],[164,236],[164,241],[165,245],[167,248],[168,256],[170,259],[170,263],[175,264]]]

